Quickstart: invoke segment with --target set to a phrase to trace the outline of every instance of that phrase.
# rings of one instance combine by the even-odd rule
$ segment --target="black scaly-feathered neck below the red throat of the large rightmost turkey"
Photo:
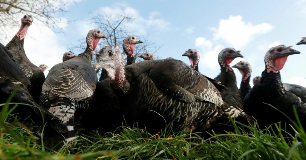
[[[261,79],[259,80],[260,84],[265,85],[266,90],[269,92],[271,91],[272,93],[276,93],[278,95],[283,95],[284,94],[284,88],[283,88],[283,83],[281,80],[281,74],[280,72],[278,73],[273,73],[267,72],[267,65],[266,69],[261,73]],[[274,92],[276,91],[276,92]]]

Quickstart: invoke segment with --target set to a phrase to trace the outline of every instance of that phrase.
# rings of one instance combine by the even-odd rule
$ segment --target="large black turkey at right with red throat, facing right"
[[[279,45],[267,51],[264,58],[266,69],[262,72],[259,82],[243,100],[245,110],[258,119],[260,125],[289,122],[282,113],[267,104],[276,107],[293,120],[295,120],[293,113],[293,106],[295,106],[301,122],[305,124],[306,88],[294,84],[283,84],[281,81],[280,70],[285,65],[287,57],[300,54],[291,47]]]

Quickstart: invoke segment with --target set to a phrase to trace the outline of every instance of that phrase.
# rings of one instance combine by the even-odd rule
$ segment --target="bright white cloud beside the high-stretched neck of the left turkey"
[[[67,20],[63,18],[62,20],[61,26],[67,26],[67,24],[65,24]],[[16,26],[8,30],[9,36],[3,39],[4,45],[13,38],[19,30],[19,27],[20,26]],[[62,62],[62,55],[66,51],[58,35],[38,20],[34,20],[33,24],[28,29],[24,39],[24,50],[28,59],[34,65],[39,66],[41,64],[46,64],[49,68]],[[48,70],[44,73],[47,76]]]

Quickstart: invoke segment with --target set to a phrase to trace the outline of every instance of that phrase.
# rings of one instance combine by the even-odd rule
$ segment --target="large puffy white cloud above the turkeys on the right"
[[[218,28],[210,29],[215,32],[215,40],[223,39],[234,48],[241,49],[248,44],[255,35],[270,32],[273,27],[267,23],[253,25],[251,22],[244,22],[240,15],[231,15],[228,19],[221,19]]]

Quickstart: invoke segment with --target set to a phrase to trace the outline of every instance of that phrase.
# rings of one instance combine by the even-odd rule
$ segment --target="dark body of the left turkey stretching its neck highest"
[[[19,65],[22,72],[28,77],[31,86],[28,91],[33,97],[35,102],[39,102],[41,88],[45,80],[43,72],[34,65],[26,56],[24,51],[24,39],[20,40],[19,37],[14,36],[13,39],[6,45],[8,53],[14,58]]]

